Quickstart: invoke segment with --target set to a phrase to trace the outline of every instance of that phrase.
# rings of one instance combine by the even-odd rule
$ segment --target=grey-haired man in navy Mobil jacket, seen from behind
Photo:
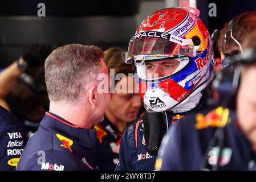
[[[111,84],[103,56],[98,47],[68,44],[47,57],[50,111],[30,137],[17,170],[97,169],[97,138],[91,127],[103,121],[110,100],[109,92],[98,92],[97,76],[107,76],[107,90]]]

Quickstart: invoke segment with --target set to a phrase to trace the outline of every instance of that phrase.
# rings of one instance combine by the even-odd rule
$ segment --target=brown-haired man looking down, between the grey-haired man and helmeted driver
[[[97,130],[98,152],[97,164],[99,170],[114,170],[119,158],[119,145],[125,128],[136,121],[142,102],[137,92],[133,78],[133,66],[121,60],[122,49],[112,47],[104,52],[104,62],[109,74],[113,77],[123,74],[120,80],[115,80],[111,86],[111,100],[105,111],[104,121],[94,126]],[[130,74],[130,75],[129,75]],[[116,92],[115,86],[125,86],[125,92]],[[129,89],[132,92],[129,92]]]

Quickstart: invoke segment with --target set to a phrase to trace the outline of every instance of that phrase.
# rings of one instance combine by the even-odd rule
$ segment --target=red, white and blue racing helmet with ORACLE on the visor
[[[196,106],[198,94],[212,81],[211,38],[199,13],[185,7],[155,11],[130,40],[125,62],[136,65],[136,81],[147,111],[186,111],[186,103]],[[180,63],[171,75],[148,77],[147,62],[168,59]]]

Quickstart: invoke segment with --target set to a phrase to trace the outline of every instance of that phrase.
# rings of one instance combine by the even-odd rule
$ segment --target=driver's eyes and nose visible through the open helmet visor
[[[152,79],[172,75],[179,64],[180,61],[174,59],[145,62],[147,78]]]

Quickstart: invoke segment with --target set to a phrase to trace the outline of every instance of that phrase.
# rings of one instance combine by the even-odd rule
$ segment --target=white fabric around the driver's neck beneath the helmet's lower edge
[[[177,105],[176,107],[173,107],[170,109],[173,113],[184,113],[186,111],[194,109],[200,102],[202,97],[202,93],[198,92],[196,94],[191,94],[189,97],[187,97],[181,104]]]

